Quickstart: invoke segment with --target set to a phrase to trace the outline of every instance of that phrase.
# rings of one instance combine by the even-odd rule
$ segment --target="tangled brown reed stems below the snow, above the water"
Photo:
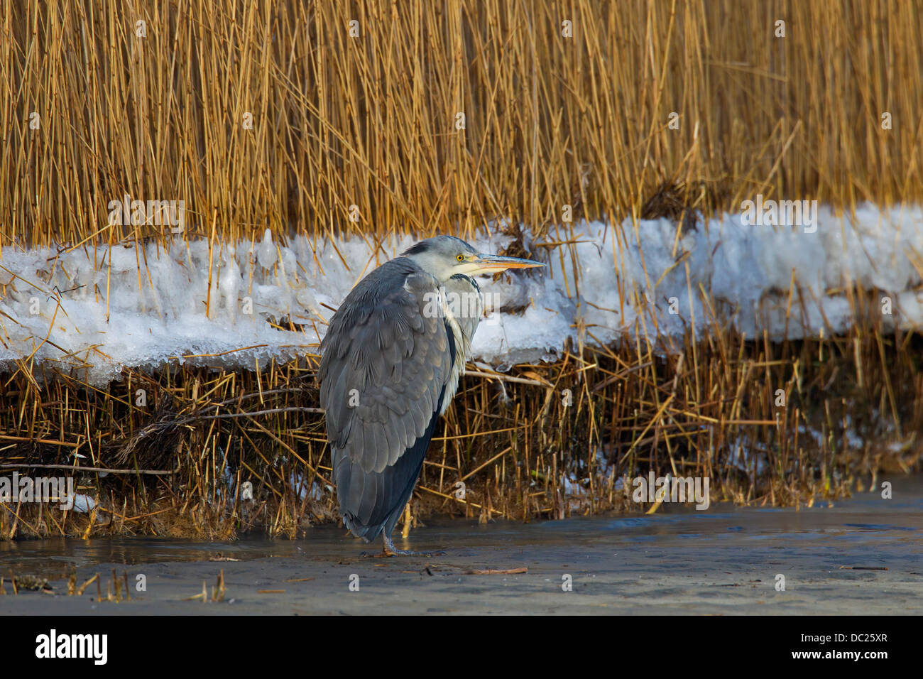
[[[814,503],[877,487],[920,465],[919,345],[874,330],[782,344],[715,331],[670,358],[639,343],[477,370],[438,427],[414,521],[646,509],[617,481],[649,469],[710,477],[713,502]],[[0,535],[293,536],[335,520],[313,376],[312,360],[260,374],[126,371],[107,392],[62,376],[34,394],[18,374],[0,401],[0,472],[73,473],[99,506],[0,505]],[[138,388],[151,394],[146,408],[133,405]]]

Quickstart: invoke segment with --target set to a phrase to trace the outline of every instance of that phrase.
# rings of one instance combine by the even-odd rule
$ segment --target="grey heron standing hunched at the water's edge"
[[[340,514],[383,554],[449,407],[483,309],[473,276],[542,262],[479,253],[436,236],[366,275],[330,319],[320,344],[320,406]]]

